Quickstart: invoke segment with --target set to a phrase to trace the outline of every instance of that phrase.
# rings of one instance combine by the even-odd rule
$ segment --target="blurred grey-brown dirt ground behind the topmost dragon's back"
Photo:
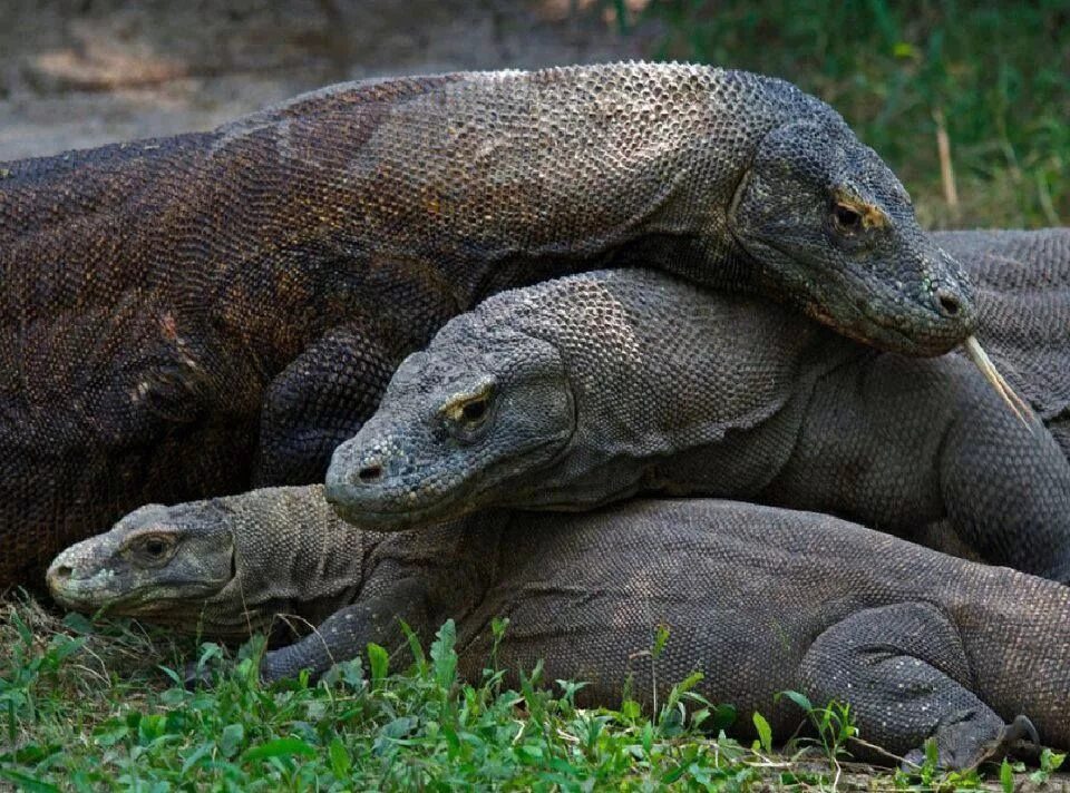
[[[4,0],[0,160],[208,129],[330,82],[642,56],[595,0]]]

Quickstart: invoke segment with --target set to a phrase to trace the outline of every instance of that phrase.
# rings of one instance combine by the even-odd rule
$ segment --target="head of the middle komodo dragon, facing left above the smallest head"
[[[552,464],[575,424],[553,344],[464,314],[401,363],[379,411],[335,449],[327,499],[366,529],[458,518]]]

